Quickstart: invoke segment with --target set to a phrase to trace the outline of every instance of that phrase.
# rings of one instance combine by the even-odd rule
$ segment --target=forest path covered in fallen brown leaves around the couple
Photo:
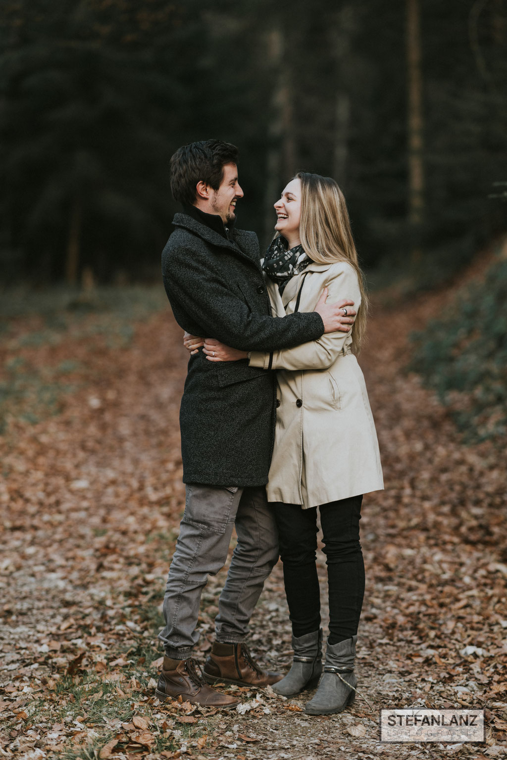
[[[242,713],[204,717],[151,698],[160,603],[184,502],[178,411],[186,353],[168,309],[139,323],[124,347],[100,333],[26,344],[27,362],[71,357],[84,382],[58,416],[35,426],[11,420],[2,439],[5,755],[97,757],[93,748],[102,758],[500,754],[505,468],[490,444],[465,446],[434,395],[404,370],[408,331],[423,328],[439,304],[437,294],[379,306],[370,321],[360,363],[386,489],[363,506],[357,671],[369,705],[358,699],[330,717],[301,712],[308,694],[284,701],[243,690]],[[320,570],[324,584],[322,563]],[[201,660],[224,576],[204,591]],[[252,619],[251,644],[263,663],[290,662],[280,564]],[[488,746],[480,748],[487,754],[477,745],[379,743],[379,709],[409,705],[487,706]]]

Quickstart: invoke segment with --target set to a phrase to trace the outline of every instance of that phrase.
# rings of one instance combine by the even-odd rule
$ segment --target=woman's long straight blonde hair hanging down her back
[[[299,172],[293,179],[301,180],[299,237],[306,254],[317,264],[347,261],[356,270],[361,305],[356,309],[357,316],[351,334],[353,351],[359,353],[366,332],[368,296],[363,272],[357,261],[344,194],[331,177]],[[344,293],[345,296],[347,293]]]

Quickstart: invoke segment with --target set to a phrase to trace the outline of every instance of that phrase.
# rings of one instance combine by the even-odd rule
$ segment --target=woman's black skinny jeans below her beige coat
[[[352,496],[319,507],[324,553],[328,565],[329,644],[356,635],[364,596],[364,562],[359,541],[363,496]],[[317,507],[274,503],[280,539],[280,559],[293,635],[318,631]]]

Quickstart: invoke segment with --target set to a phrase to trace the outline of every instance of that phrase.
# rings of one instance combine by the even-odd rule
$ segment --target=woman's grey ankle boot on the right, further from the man
[[[347,705],[352,705],[356,696],[354,689],[357,685],[357,679],[353,673],[356,641],[357,636],[353,636],[332,646],[328,644],[325,653],[324,676],[314,698],[305,706],[306,713],[330,715],[341,712]],[[353,686],[353,689],[346,686],[338,674],[350,686]],[[280,686],[280,683],[277,683],[277,686]]]

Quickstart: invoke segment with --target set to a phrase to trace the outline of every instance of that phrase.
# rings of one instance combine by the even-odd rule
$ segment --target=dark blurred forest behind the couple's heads
[[[8,0],[1,24],[4,283],[157,277],[170,156],[211,137],[261,245],[299,169],[344,189],[366,268],[419,285],[507,227],[506,0]]]

